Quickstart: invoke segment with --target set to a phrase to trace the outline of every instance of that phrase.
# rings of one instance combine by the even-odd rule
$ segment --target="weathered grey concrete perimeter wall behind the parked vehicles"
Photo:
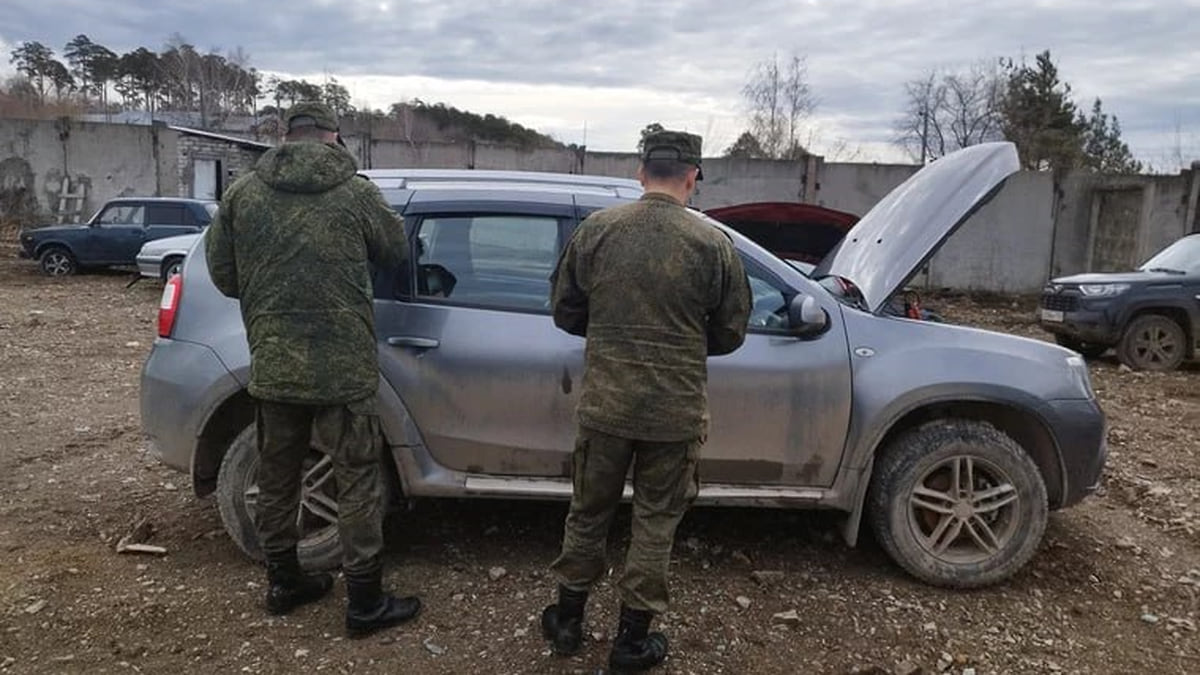
[[[499,147],[487,143],[407,143],[349,136],[359,165],[372,168],[430,167],[524,169],[632,178],[637,156],[576,149]],[[86,189],[84,214],[119,195],[191,192],[192,162],[221,159],[224,185],[258,153],[236,144],[163,127],[48,120],[0,120],[0,220],[28,223],[54,214],[62,178]],[[809,202],[863,215],[893,187],[916,173],[907,165],[823,163],[706,159],[704,180],[692,205],[762,201]],[[974,214],[913,282],[929,287],[1036,292],[1051,276],[1086,271],[1105,190],[1140,195],[1134,216],[1114,221],[1129,227],[1134,256],[1144,261],[1182,234],[1200,229],[1200,163],[1178,175],[1112,177],[1086,173],[1022,172]],[[1112,211],[1116,213],[1116,211]],[[1128,221],[1128,222],[1126,222]],[[1110,256],[1111,257],[1111,256]]]

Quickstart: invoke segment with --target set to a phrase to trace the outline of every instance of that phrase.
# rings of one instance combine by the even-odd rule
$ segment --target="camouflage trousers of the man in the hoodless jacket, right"
[[[551,565],[559,583],[583,591],[604,574],[608,530],[632,466],[634,520],[618,592],[632,609],[666,611],[671,546],[700,491],[702,442],[634,441],[580,428],[563,550]]]

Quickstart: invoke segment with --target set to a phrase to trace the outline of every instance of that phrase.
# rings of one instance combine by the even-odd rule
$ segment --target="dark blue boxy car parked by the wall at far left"
[[[23,229],[18,255],[36,259],[49,276],[85,267],[134,265],[143,244],[200,232],[212,222],[216,209],[216,202],[204,199],[119,197],[85,223]]]

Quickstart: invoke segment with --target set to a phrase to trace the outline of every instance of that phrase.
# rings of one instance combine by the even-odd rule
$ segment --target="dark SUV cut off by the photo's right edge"
[[[1042,328],[1085,357],[1116,347],[1134,370],[1175,370],[1196,358],[1200,336],[1200,233],[1134,271],[1054,279],[1042,292]]]

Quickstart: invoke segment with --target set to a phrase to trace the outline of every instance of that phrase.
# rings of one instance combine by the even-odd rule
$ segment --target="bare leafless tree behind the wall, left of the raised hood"
[[[800,126],[816,109],[805,58],[792,54],[780,67],[779,56],[760,61],[742,88],[750,117],[750,135],[767,157],[804,154]]]

